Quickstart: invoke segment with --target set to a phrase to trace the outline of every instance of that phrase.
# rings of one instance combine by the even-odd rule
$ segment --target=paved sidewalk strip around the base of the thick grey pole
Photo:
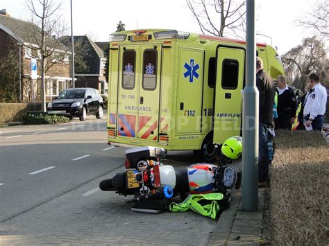
[[[242,211],[242,191],[234,193],[230,208],[223,211],[208,245],[260,245],[265,188],[258,190],[258,211]]]

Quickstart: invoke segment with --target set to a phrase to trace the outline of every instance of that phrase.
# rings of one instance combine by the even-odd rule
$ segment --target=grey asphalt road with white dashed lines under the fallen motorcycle
[[[106,121],[0,128],[0,245],[204,245],[216,222],[192,211],[134,213],[125,197],[100,191],[124,170],[124,151],[107,145]],[[171,152],[169,164],[193,163]]]

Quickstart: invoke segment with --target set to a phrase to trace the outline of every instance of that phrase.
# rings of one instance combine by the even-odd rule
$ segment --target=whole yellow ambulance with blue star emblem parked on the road
[[[257,44],[264,69],[284,74],[273,47]],[[246,43],[178,30],[130,30],[110,39],[108,143],[194,150],[241,136]]]

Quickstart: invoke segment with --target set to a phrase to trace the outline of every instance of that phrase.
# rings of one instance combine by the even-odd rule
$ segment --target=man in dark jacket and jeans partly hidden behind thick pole
[[[256,58],[256,87],[259,97],[259,139],[258,139],[258,186],[266,185],[269,177],[269,150],[267,148],[267,126],[273,121],[273,103],[276,87],[263,69],[263,61]]]

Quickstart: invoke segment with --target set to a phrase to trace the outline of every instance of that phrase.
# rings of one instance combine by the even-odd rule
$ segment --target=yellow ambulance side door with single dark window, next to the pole
[[[242,127],[242,89],[244,49],[217,47],[217,76],[214,91],[214,143],[240,136]]]

